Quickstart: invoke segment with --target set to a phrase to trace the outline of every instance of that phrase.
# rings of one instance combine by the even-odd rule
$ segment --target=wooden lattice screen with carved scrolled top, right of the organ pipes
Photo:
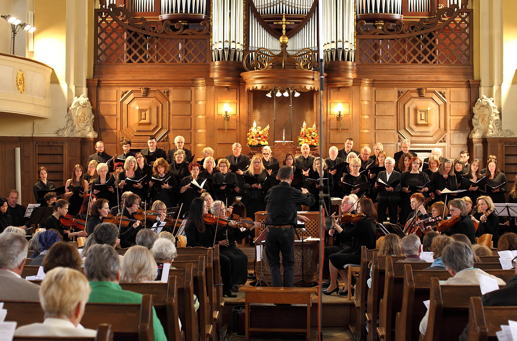
[[[357,22],[357,63],[472,64],[472,9],[440,9],[433,18],[368,29]]]

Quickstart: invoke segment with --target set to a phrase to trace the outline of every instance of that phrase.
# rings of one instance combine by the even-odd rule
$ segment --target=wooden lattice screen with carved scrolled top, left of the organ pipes
[[[95,14],[98,64],[210,62],[208,22],[201,32],[177,25],[172,31],[170,22],[135,19],[124,7],[101,6]]]

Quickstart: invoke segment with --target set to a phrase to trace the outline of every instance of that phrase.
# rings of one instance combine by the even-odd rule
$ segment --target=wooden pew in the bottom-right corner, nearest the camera
[[[468,340],[495,339],[501,324],[517,320],[517,306],[483,307],[480,297],[471,297],[468,310]]]

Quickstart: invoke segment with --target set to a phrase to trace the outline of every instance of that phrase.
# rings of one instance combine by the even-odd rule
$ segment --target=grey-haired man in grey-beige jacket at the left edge
[[[0,301],[39,301],[39,286],[21,277],[27,240],[16,233],[0,234]]]

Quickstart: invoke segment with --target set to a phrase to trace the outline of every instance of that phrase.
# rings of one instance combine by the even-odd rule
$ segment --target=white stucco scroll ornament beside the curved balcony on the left
[[[88,97],[74,97],[65,116],[66,125],[54,134],[66,137],[97,137],[94,130],[94,113]]]

